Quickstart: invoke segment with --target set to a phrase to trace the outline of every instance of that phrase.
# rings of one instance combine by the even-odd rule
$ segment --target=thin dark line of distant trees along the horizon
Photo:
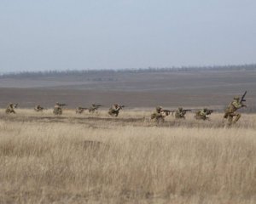
[[[1,73],[0,78],[5,77],[61,77],[61,76],[81,76],[96,73],[145,73],[145,72],[172,72],[172,71],[256,71],[256,64],[250,65],[211,65],[211,66],[181,66],[181,67],[148,67],[137,69],[119,70],[66,70],[66,71],[20,71]]]

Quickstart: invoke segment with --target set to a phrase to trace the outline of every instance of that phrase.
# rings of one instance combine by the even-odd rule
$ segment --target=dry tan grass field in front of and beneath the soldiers
[[[0,110],[0,203],[255,203],[256,116]]]

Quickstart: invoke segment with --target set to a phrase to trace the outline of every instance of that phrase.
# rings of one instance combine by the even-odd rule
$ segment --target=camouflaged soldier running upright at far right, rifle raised
[[[236,123],[240,119],[241,114],[236,113],[236,111],[242,107],[247,107],[247,105],[243,105],[239,97],[234,97],[234,100],[230,103],[224,113],[224,119],[228,119],[229,126]],[[236,116],[236,118],[233,121],[234,116]]]

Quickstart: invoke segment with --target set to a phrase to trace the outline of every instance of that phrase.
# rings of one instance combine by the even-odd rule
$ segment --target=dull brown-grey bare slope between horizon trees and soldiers
[[[96,71],[90,73],[0,78],[0,106],[36,104],[69,107],[113,103],[129,107],[221,106],[247,90],[247,104],[255,105],[256,70],[224,71]]]

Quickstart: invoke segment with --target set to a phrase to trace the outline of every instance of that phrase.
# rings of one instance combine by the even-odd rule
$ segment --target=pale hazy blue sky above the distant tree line
[[[255,0],[1,0],[0,72],[256,62]]]

